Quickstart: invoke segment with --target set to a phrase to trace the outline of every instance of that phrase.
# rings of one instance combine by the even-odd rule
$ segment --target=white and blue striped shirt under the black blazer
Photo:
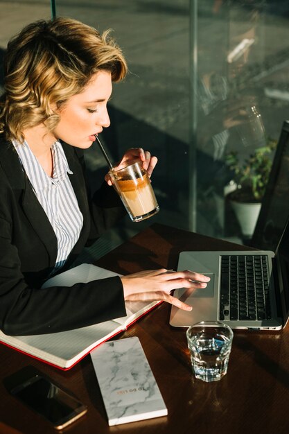
[[[58,241],[58,255],[53,272],[64,266],[69,253],[78,241],[83,224],[83,216],[73,191],[68,173],[71,174],[67,157],[59,141],[51,146],[53,157],[53,177],[49,177],[30,150],[28,143],[12,141],[22,167],[33,186],[33,190]]]

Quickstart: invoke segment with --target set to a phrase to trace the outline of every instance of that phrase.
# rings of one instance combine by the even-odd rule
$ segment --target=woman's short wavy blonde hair
[[[24,140],[23,130],[44,123],[52,131],[61,107],[79,94],[99,70],[122,80],[128,67],[110,37],[74,19],[58,17],[28,24],[8,42],[4,58],[4,94],[0,101],[0,133]]]

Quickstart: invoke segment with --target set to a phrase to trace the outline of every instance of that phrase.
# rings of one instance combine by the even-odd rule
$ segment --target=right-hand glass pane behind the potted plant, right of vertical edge
[[[198,9],[198,88],[193,93],[198,106],[197,230],[247,243],[254,223],[244,225],[245,218],[239,220],[235,207],[243,201],[261,202],[263,184],[288,116],[289,3],[191,3]],[[270,149],[264,149],[268,145]],[[231,170],[234,159],[237,174]],[[260,205],[254,207],[258,216]],[[249,217],[253,214],[250,208]]]

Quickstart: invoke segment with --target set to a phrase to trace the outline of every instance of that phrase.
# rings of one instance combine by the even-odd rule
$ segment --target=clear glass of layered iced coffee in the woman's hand
[[[149,218],[159,211],[150,178],[140,160],[119,170],[112,168],[110,177],[133,222]]]

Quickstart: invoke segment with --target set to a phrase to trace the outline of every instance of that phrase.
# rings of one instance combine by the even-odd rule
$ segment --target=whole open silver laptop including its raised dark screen
[[[288,216],[289,203],[287,177],[284,180],[289,167],[288,144],[289,123],[285,121],[257,223],[262,234],[259,240],[255,237],[257,246],[265,250],[182,252],[177,269],[200,272],[211,277],[211,281],[207,288],[175,290],[175,297],[193,309],[187,312],[172,306],[173,327],[189,327],[204,320],[220,320],[234,329],[285,327],[289,315],[289,220],[283,221]],[[279,242],[266,229],[269,225],[274,227],[275,236],[279,234]]]

